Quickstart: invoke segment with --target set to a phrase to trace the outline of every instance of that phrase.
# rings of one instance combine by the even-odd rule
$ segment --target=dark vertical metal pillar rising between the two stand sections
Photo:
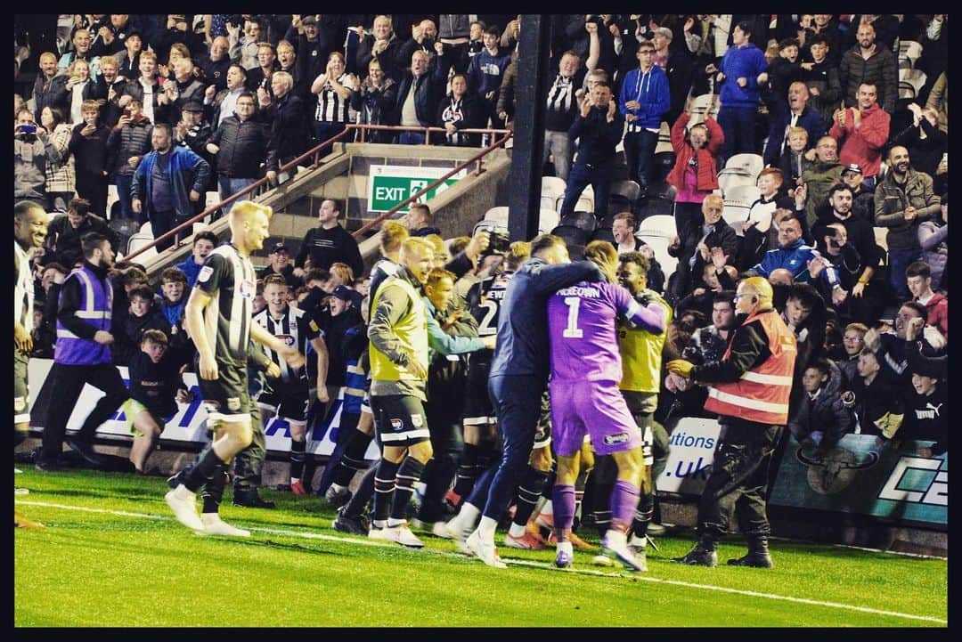
[[[515,95],[515,146],[511,158],[508,231],[514,240],[538,234],[541,208],[541,165],[544,153],[544,112],[547,109],[550,17],[521,15],[518,81]]]

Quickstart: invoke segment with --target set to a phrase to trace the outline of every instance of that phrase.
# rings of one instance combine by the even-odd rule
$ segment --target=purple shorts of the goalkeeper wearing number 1
[[[616,382],[548,383],[554,452],[571,457],[590,434],[597,455],[642,447],[642,431]]]

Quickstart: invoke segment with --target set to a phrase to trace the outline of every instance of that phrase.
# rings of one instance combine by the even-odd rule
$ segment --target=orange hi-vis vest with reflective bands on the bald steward
[[[795,334],[773,309],[748,315],[743,326],[760,321],[769,339],[772,356],[748,370],[737,382],[708,387],[705,409],[759,424],[784,426],[788,423],[788,400],[798,354]],[[724,358],[731,356],[731,342]]]

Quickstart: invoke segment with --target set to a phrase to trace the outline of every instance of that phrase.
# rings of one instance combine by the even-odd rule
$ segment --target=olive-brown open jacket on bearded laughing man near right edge
[[[875,225],[889,228],[885,235],[889,250],[915,250],[919,245],[919,226],[934,216],[942,199],[932,190],[932,179],[914,169],[908,170],[904,187],[890,171],[875,187]],[[912,206],[916,216],[905,220],[905,208]]]

